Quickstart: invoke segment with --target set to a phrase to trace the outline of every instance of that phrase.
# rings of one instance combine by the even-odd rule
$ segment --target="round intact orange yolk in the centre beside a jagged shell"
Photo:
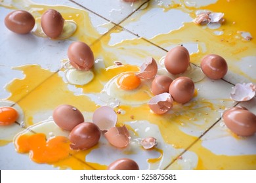
[[[135,73],[127,73],[117,79],[117,84],[123,90],[134,90],[140,86],[140,78]]]

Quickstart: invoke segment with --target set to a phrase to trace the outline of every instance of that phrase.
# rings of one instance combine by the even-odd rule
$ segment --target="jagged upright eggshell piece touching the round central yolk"
[[[148,57],[140,66],[140,73],[137,75],[141,79],[150,80],[158,73],[158,64],[154,58]]]

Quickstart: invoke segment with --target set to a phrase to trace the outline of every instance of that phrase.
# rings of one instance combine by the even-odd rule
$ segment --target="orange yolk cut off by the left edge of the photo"
[[[12,107],[0,107],[0,125],[11,125],[18,119],[18,112]]]

